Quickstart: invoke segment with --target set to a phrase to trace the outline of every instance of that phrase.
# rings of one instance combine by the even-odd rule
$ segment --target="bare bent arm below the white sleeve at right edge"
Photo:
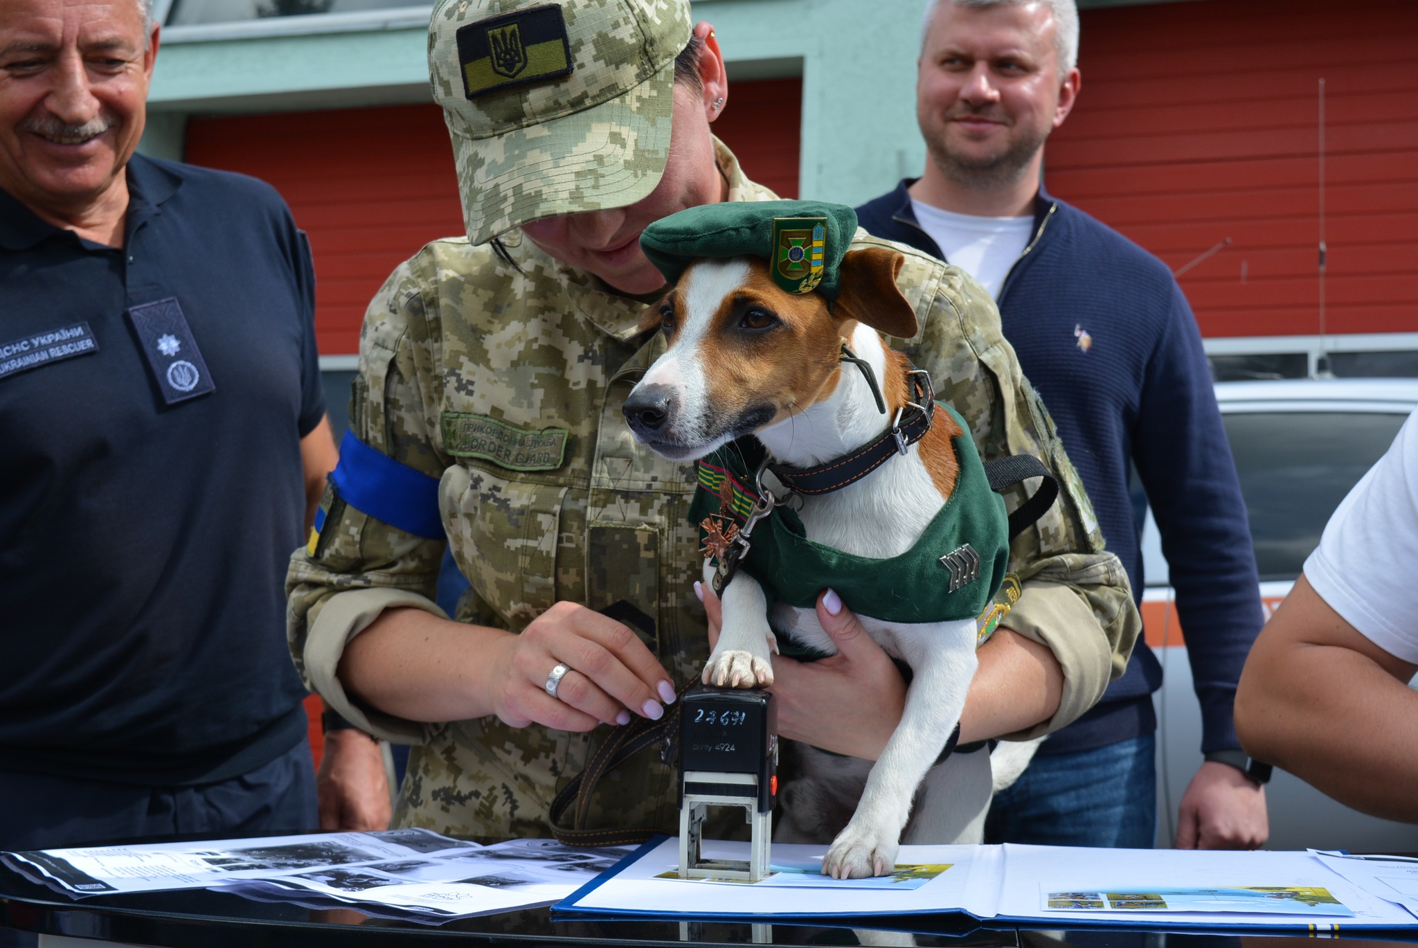
[[[1418,666],[1330,609],[1305,575],[1261,630],[1241,673],[1246,752],[1356,809],[1418,822]]]

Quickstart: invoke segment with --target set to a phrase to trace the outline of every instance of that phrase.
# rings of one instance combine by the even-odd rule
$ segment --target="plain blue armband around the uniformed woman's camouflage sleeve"
[[[353,431],[340,441],[340,463],[330,471],[330,483],[340,500],[362,514],[414,536],[444,539],[438,478],[400,464]]]

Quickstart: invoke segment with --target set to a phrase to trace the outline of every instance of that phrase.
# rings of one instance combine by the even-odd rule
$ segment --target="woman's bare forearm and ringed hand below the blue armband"
[[[557,697],[543,685],[557,663],[573,671]],[[522,634],[390,609],[350,640],[339,678],[357,700],[410,721],[495,714],[512,727],[557,731],[659,718],[675,697],[669,674],[625,626],[559,602]]]

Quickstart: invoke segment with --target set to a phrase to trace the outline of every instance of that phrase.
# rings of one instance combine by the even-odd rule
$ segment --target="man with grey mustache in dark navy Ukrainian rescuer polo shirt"
[[[316,825],[282,592],[336,460],[309,248],[269,186],[133,153],[157,34],[146,0],[0,3],[0,850]]]

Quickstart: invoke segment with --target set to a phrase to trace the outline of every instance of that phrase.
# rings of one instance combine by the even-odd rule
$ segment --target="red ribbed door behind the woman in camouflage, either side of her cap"
[[[797,78],[736,82],[713,125],[744,170],[786,197],[797,196],[801,101]],[[390,271],[462,233],[435,105],[194,118],[186,158],[271,182],[291,204],[311,234],[323,355],[357,352],[364,308]]]

